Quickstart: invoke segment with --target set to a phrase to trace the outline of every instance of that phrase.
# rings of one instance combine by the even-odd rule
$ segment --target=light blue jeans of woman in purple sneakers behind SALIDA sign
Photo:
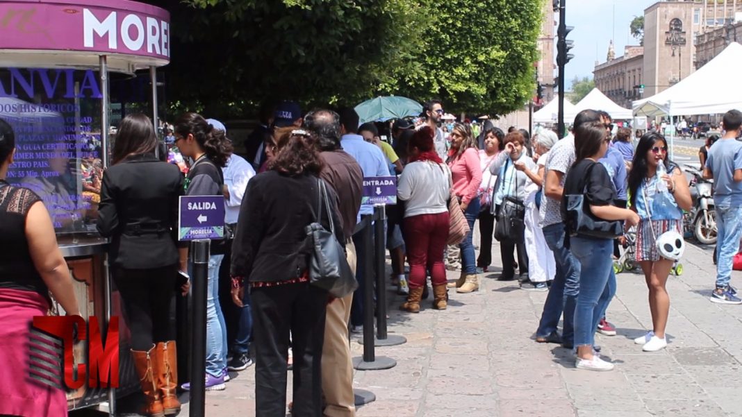
[[[209,280],[206,293],[206,373],[218,377],[227,367],[227,330],[219,304],[219,266],[223,255],[209,258]]]

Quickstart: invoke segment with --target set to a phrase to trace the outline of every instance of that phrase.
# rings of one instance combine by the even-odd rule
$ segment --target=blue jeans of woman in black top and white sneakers
[[[571,248],[581,266],[580,295],[574,310],[574,346],[593,346],[598,322],[616,290],[613,240],[574,237]]]

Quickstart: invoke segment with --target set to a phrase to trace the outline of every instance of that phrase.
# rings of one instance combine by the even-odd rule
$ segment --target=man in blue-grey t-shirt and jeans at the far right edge
[[[714,179],[718,259],[716,289],[711,301],[719,304],[742,304],[737,290],[729,285],[732,257],[742,237],[742,142],[736,140],[741,126],[739,110],[724,114],[724,136],[709,148],[709,158],[703,167],[703,178]]]

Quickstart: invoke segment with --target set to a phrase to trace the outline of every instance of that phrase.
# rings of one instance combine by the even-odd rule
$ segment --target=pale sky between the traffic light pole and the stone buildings
[[[593,78],[595,60],[602,64],[608,53],[608,42],[614,40],[616,56],[623,55],[623,47],[637,45],[628,25],[634,16],[644,16],[644,9],[657,0],[567,0],[566,23],[574,26],[567,39],[574,41],[570,51],[574,58],[565,68],[567,89],[575,76]],[[555,17],[557,21],[558,17]],[[556,27],[554,33],[557,33]],[[555,71],[556,75],[556,71]]]

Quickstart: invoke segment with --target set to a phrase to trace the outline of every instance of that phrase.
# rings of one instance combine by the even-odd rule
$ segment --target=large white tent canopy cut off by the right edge
[[[634,101],[637,116],[692,116],[742,110],[742,45],[732,42],[695,73],[647,99]]]

